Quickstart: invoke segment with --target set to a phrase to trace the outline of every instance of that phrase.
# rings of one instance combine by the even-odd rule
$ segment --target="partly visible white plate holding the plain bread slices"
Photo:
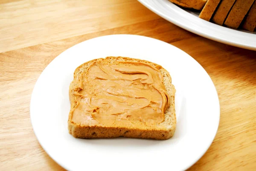
[[[244,49],[256,50],[256,32],[239,31],[202,20],[199,13],[185,11],[169,0],[138,0],[164,19],[205,38]]]

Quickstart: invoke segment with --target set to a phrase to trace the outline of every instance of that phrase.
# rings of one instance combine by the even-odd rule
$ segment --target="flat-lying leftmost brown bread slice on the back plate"
[[[172,3],[177,4],[178,6],[182,6],[184,8],[192,8],[201,10],[204,8],[205,3],[207,0],[169,0]]]

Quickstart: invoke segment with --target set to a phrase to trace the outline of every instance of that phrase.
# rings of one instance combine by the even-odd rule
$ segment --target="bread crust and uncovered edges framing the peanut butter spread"
[[[154,64],[149,61],[134,59],[134,58],[126,58],[126,57],[107,57],[107,58],[99,58],[94,59],[92,61],[88,61],[79,67],[76,68],[74,72],[74,80],[70,83],[70,104],[71,110],[76,106],[75,96],[73,95],[73,87],[76,86],[76,83],[79,79],[79,75],[83,72],[87,71],[87,68],[94,61],[108,61],[109,64],[118,64],[119,61],[132,61],[132,62],[140,62],[149,64],[155,68],[157,68],[164,78],[164,86],[166,87],[167,93],[169,94],[170,105],[165,113],[164,122],[156,125],[155,127],[145,127],[145,129],[131,127],[105,127],[101,125],[95,126],[87,126],[87,125],[79,125],[71,121],[72,113],[69,114],[68,119],[68,130],[71,135],[76,138],[115,138],[119,136],[129,137],[129,138],[143,138],[143,139],[169,139],[174,135],[176,129],[176,114],[175,114],[175,87],[172,84],[172,78],[169,75],[169,72],[166,71],[163,67],[158,64]]]

